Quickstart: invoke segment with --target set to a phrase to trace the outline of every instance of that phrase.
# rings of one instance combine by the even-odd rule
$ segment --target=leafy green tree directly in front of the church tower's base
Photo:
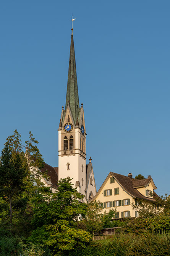
[[[83,195],[72,187],[71,178],[58,182],[58,191],[50,188],[37,188],[32,198],[32,234],[29,241],[50,246],[55,255],[85,246],[90,241],[89,232],[78,229],[78,221],[87,211]]]

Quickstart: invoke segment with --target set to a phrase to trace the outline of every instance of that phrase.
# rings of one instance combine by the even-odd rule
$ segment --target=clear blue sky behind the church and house
[[[152,175],[170,194],[170,1],[0,3],[0,150],[18,129],[58,166],[71,13],[87,160],[97,189],[110,171]],[[88,161],[87,161],[88,163]]]

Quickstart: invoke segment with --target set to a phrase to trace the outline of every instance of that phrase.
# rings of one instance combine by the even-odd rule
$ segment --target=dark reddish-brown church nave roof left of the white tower
[[[51,177],[50,181],[53,188],[58,188],[58,167],[52,167],[49,164],[44,163],[44,168],[41,169],[41,172],[46,172]]]

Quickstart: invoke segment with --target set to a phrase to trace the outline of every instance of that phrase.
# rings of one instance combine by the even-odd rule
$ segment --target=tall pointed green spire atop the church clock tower
[[[76,74],[76,59],[74,53],[74,41],[73,41],[73,28],[71,35],[71,46],[70,46],[70,59],[68,67],[68,82],[67,82],[67,94],[66,94],[66,107],[69,104],[71,114],[74,122],[78,118],[79,114],[79,97],[78,97],[78,86],[77,86],[77,74]],[[68,103],[69,102],[69,103]]]

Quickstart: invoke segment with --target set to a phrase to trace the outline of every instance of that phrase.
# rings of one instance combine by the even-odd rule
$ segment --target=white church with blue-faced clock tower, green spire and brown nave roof
[[[41,171],[48,172],[50,179],[42,178],[42,181],[53,192],[57,190],[58,180],[73,178],[73,187],[84,195],[85,202],[89,202],[96,195],[96,184],[91,157],[86,164],[86,135],[83,103],[79,106],[72,28],[66,103],[65,108],[62,106],[58,127],[58,167],[45,163]]]

